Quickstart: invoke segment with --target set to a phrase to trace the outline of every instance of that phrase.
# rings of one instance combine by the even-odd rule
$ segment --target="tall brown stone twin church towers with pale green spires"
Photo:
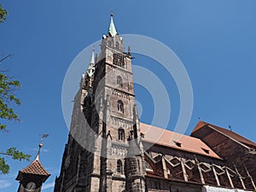
[[[55,192],[146,191],[143,144],[130,51],[111,15],[101,53],[91,56],[75,96],[68,142]]]

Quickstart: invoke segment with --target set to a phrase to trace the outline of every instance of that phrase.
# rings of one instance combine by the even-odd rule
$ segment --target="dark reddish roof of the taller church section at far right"
[[[208,126],[211,129],[216,130],[216,131],[222,133],[224,136],[230,137],[230,138],[236,140],[239,143],[243,143],[243,144],[247,145],[248,147],[250,147],[250,146],[256,147],[256,143],[253,143],[252,141],[248,140],[247,138],[238,135],[236,132],[224,129],[224,128],[219,127],[217,125],[209,124],[209,123],[204,122],[204,121],[199,121],[191,134],[193,134],[195,131],[200,130],[201,128],[203,128],[205,126]]]

